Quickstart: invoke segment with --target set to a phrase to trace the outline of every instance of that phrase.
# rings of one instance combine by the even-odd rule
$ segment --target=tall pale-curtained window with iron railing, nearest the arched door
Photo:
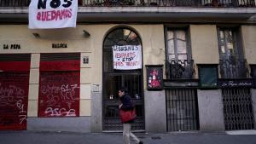
[[[195,78],[189,32],[186,28],[166,29],[166,78]]]

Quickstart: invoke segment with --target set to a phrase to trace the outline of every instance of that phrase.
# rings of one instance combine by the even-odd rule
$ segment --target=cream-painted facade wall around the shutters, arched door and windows
[[[33,124],[38,122],[38,82],[39,82],[39,60],[40,53],[64,53],[79,52],[81,53],[81,70],[80,70],[80,116],[87,118],[84,129],[94,129],[101,131],[102,120],[94,121],[94,118],[102,118],[102,100],[98,99],[102,95],[102,43],[105,35],[114,26],[119,25],[79,25],[77,28],[67,28],[61,30],[29,30],[25,25],[1,25],[0,26],[0,53],[31,53],[32,63],[29,83],[29,101],[28,117]],[[144,71],[144,90],[145,102],[149,108],[154,106],[155,111],[166,111],[165,101],[156,106],[154,101],[149,101],[150,95],[154,92],[146,89],[146,69],[145,65],[163,65],[165,63],[165,38],[163,25],[129,25],[137,31],[143,42],[143,71]],[[14,31],[15,30],[15,31]],[[90,37],[83,36],[83,30],[90,33]],[[243,46],[245,55],[249,64],[255,64],[256,50],[256,26],[241,26]],[[197,63],[218,63],[218,38],[217,28],[215,25],[190,25],[189,26],[192,57]],[[38,33],[40,37],[34,37],[32,33]],[[21,49],[3,49],[3,44],[20,44]],[[52,49],[52,43],[67,43],[67,49]],[[84,56],[90,57],[89,64],[83,64]],[[197,67],[195,67],[197,71]],[[164,72],[165,73],[165,72]],[[198,77],[196,72],[196,78]],[[164,74],[165,77],[165,74]],[[99,91],[92,92],[91,85],[99,84]],[[162,94],[162,92],[160,92]],[[96,96],[95,96],[96,95]],[[149,95],[149,96],[148,96]],[[95,97],[94,97],[95,96]],[[162,99],[162,96],[158,96]],[[156,98],[155,101],[158,98]],[[163,105],[164,104],[164,105]],[[163,108],[164,107],[164,108]],[[150,112],[150,111],[147,111]],[[146,124],[154,124],[154,121],[148,121],[151,114],[146,114]],[[166,118],[166,112],[162,112],[160,117]],[[153,117],[153,116],[152,116]],[[90,119],[91,118],[91,119]],[[154,119],[154,118],[153,118]],[[47,120],[40,119],[42,123],[47,124]],[[58,119],[56,119],[57,121]],[[63,120],[66,124],[69,119]],[[147,122],[148,121],[148,122]],[[77,121],[81,125],[81,121]],[[94,123],[96,122],[96,123]],[[151,123],[152,122],[152,123]],[[213,123],[213,122],[212,122]],[[163,122],[164,124],[164,122]],[[96,127],[93,127],[95,126]],[[60,126],[61,127],[61,126]],[[28,127],[29,128],[29,127]],[[31,129],[39,129],[31,127]],[[67,127],[67,129],[69,129]],[[149,128],[148,128],[149,130]],[[150,129],[150,131],[154,131]],[[160,131],[165,131],[164,126]]]

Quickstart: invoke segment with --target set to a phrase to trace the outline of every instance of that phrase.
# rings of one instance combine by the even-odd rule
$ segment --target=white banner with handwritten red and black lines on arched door
[[[141,45],[115,45],[113,49],[113,69],[134,70],[142,68]]]

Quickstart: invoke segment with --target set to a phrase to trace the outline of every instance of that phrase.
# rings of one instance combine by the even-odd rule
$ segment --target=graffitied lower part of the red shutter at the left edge
[[[29,72],[0,72],[0,130],[26,130]]]

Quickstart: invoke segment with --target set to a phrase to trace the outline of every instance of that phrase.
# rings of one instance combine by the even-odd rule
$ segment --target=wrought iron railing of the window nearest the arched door
[[[166,78],[195,78],[194,60],[166,60]]]

